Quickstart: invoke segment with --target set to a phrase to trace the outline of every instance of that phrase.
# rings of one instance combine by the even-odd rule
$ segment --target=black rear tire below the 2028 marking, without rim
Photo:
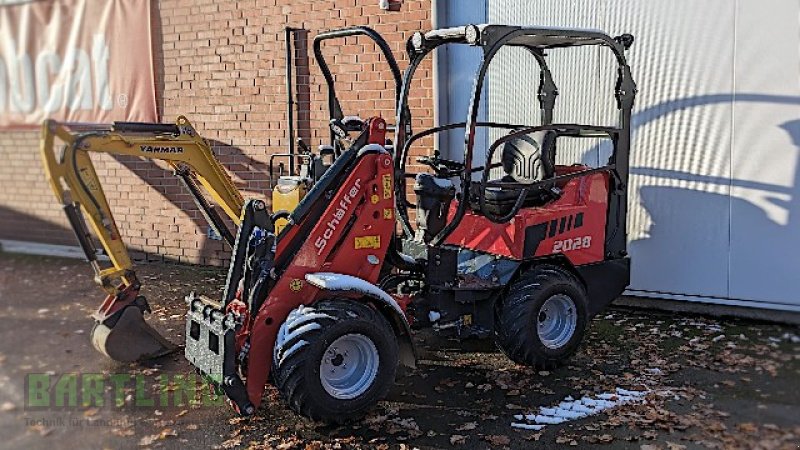
[[[558,304],[568,304],[565,297],[574,305],[574,331],[570,335],[571,327],[566,327],[560,339],[550,340],[546,345],[539,334],[539,325],[547,318],[542,307],[551,298]],[[552,304],[548,308],[552,309]],[[498,304],[495,342],[517,364],[552,369],[578,349],[586,331],[586,306],[586,290],[575,276],[558,266],[536,265],[509,287]],[[571,319],[567,320],[571,323]]]

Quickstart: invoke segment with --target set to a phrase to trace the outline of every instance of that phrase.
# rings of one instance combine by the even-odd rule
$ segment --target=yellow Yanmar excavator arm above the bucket
[[[65,144],[56,155],[56,142]],[[113,125],[68,124],[48,120],[43,124],[41,154],[45,172],[58,200],[64,205],[70,225],[87,259],[95,270],[95,280],[109,296],[117,296],[138,282],[130,256],[108,206],[89,153],[139,156],[166,161],[184,182],[209,224],[233,245],[231,232],[198,189],[202,185],[234,224],[244,200],[224,167],[214,157],[211,147],[181,116],[174,125],[117,122]],[[85,213],[112,267],[97,263],[92,239],[84,225]],[[110,305],[109,305],[110,306]],[[111,311],[107,311],[111,312]]]

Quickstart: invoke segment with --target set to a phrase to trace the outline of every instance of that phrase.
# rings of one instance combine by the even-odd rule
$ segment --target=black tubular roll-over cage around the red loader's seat
[[[480,211],[488,219],[503,223],[511,220],[523,207],[526,194],[532,189],[541,189],[565,182],[572,178],[586,176],[596,172],[611,174],[613,186],[609,190],[608,220],[606,223],[605,254],[607,258],[617,258],[626,255],[626,217],[627,217],[627,185],[628,185],[628,159],[631,134],[631,110],[636,96],[636,84],[631,76],[630,67],[625,59],[625,50],[633,43],[633,36],[623,34],[610,37],[597,30],[557,29],[547,27],[522,27],[509,25],[467,25],[456,28],[433,30],[428,33],[415,33],[406,43],[410,64],[403,77],[403,85],[397,105],[397,128],[395,131],[395,201],[397,216],[400,219],[403,232],[406,236],[413,236],[411,221],[407,207],[410,205],[406,197],[405,183],[407,178],[406,160],[411,145],[419,139],[436,133],[464,128],[464,170],[460,175],[460,190],[462,201],[458,203],[453,220],[434,237],[431,245],[438,245],[445,241],[448,235],[458,227],[461,219],[469,207],[467,195],[470,192],[472,175],[482,172],[480,189],[478,190],[478,204]],[[434,49],[445,44],[466,44],[480,47],[483,50],[481,64],[476,72],[472,87],[471,99],[466,122],[452,123],[437,126],[414,134],[411,129],[411,112],[408,108],[409,91],[414,78],[414,73]],[[580,125],[580,124],[554,124],[553,110],[558,96],[550,68],[546,61],[546,51],[549,49],[566,48],[575,46],[596,45],[608,47],[614,54],[617,62],[617,79],[615,86],[616,105],[619,111],[619,124],[616,127]],[[478,122],[481,92],[492,59],[504,46],[521,47],[529,51],[539,65],[539,89],[537,97],[541,110],[540,126],[513,125],[493,122]],[[506,129],[510,133],[497,139],[486,150],[486,163],[481,167],[472,167],[473,152],[475,148],[475,132],[478,127]],[[599,137],[610,139],[613,151],[606,165],[602,167],[581,170],[553,178],[536,181],[533,183],[489,180],[490,171],[497,167],[492,164],[495,152],[504,143],[536,131],[552,130],[558,136],[572,137]],[[497,215],[486,208],[487,189],[511,189],[518,191],[519,195],[510,212]]]

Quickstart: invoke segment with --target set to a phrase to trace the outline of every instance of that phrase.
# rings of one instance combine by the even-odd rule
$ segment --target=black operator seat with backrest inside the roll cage
[[[516,137],[503,145],[500,162],[503,175],[500,180],[517,183],[535,183],[555,176],[556,154],[555,131],[537,131]],[[480,210],[480,183],[472,184],[472,206]],[[486,208],[489,212],[504,215],[511,211],[519,197],[518,189],[487,188]],[[539,186],[528,191],[523,202],[525,207],[542,206],[554,200],[557,194],[552,186]]]

